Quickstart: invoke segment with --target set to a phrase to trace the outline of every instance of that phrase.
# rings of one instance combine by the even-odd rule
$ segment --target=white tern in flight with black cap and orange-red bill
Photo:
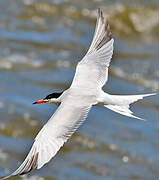
[[[130,104],[143,97],[155,95],[110,95],[102,90],[108,79],[113,55],[112,33],[103,13],[98,9],[94,37],[90,48],[77,64],[69,89],[52,93],[33,104],[48,103],[58,108],[35,138],[33,146],[21,166],[8,178],[27,174],[48,163],[86,119],[92,106],[104,106],[125,116],[133,115]]]

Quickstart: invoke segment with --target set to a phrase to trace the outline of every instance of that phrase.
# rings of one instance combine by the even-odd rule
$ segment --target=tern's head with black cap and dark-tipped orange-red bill
[[[52,93],[47,95],[44,99],[40,99],[38,101],[35,101],[33,104],[41,104],[41,103],[48,103],[48,104],[58,104],[60,103],[59,97],[62,95],[61,93]]]

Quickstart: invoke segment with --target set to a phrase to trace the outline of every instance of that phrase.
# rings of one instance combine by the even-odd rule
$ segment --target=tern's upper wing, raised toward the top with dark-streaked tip
[[[113,55],[113,42],[109,24],[98,9],[93,41],[87,54],[77,65],[71,87],[97,89],[105,84]]]

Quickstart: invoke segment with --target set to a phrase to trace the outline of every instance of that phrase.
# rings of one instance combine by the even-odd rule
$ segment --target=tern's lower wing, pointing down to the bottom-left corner
[[[36,136],[35,142],[21,166],[4,179],[26,174],[49,162],[86,119],[90,108],[90,103],[76,97],[61,103],[54,115]]]

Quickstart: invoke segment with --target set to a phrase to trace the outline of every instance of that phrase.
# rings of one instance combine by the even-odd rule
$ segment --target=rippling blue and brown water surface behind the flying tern
[[[96,9],[115,38],[104,90],[159,90],[159,3],[125,0],[0,1],[0,175],[15,170],[56,107],[32,102],[67,89],[92,40]],[[93,107],[80,129],[30,180],[157,180],[159,97],[132,107],[146,122]],[[13,179],[21,179],[15,177]]]

